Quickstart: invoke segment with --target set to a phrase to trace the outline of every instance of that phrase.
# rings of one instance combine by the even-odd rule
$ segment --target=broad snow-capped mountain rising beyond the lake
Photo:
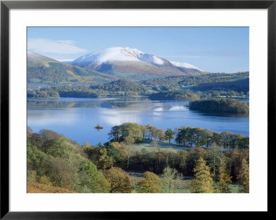
[[[204,73],[188,63],[171,62],[141,50],[121,47],[86,54],[75,59],[71,64],[122,77],[137,74],[171,76]]]

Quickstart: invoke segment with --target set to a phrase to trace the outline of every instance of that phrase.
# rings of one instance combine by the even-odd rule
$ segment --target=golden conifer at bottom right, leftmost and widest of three
[[[210,168],[206,166],[206,161],[201,157],[196,161],[195,179],[191,181],[190,191],[197,193],[213,193],[213,178],[210,174]]]

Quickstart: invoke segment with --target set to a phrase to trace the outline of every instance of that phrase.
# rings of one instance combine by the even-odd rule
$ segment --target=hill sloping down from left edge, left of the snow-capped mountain
[[[61,86],[69,84],[106,83],[117,77],[68,63],[61,63],[41,54],[28,52],[28,88]]]

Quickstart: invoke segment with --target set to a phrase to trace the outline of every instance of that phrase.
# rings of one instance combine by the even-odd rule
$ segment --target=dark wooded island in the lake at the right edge
[[[205,112],[249,113],[248,104],[235,99],[201,99],[190,101],[189,108],[190,110]]]

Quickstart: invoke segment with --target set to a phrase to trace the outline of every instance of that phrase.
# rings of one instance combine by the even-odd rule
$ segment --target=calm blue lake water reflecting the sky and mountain
[[[248,102],[248,100],[245,100]],[[34,132],[54,130],[83,144],[108,141],[112,126],[125,122],[156,128],[180,126],[208,128],[216,132],[249,133],[249,119],[244,115],[214,116],[188,110],[188,101],[150,101],[149,99],[81,99],[61,98],[28,100],[28,126]],[[94,127],[99,123],[103,129]]]

